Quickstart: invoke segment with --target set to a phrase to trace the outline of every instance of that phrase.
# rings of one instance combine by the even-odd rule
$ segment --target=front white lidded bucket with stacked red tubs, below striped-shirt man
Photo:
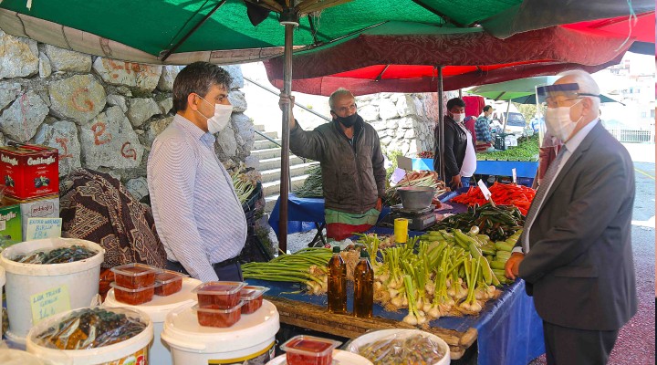
[[[264,363],[274,356],[280,328],[278,311],[269,301],[253,314],[242,315],[229,328],[199,325],[193,304],[173,309],[164,321],[162,339],[172,350],[174,365]]]

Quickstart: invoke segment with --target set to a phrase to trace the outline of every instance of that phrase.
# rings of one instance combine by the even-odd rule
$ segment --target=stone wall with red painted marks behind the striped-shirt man
[[[228,95],[233,117],[217,135],[226,164],[245,162],[254,126],[245,114],[239,66]],[[59,174],[76,167],[110,172],[137,199],[148,194],[151,143],[173,119],[172,86],[180,67],[89,56],[0,30],[0,145],[34,142],[59,150]]]

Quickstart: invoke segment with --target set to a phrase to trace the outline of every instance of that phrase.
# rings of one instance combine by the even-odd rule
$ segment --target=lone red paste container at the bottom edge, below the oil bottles
[[[340,344],[333,339],[298,335],[288,339],[281,349],[286,351],[287,365],[331,365],[333,349]]]

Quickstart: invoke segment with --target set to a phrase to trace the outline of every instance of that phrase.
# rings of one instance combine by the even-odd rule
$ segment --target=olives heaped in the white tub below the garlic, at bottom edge
[[[360,346],[351,343],[349,350],[370,360],[374,365],[432,365],[442,360],[445,352],[430,336],[420,330],[404,331],[374,339]]]

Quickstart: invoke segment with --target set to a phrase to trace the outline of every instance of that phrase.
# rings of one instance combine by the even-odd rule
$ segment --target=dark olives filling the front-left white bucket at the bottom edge
[[[84,308],[36,335],[50,349],[95,349],[131,339],[147,327],[131,311],[121,308]]]

